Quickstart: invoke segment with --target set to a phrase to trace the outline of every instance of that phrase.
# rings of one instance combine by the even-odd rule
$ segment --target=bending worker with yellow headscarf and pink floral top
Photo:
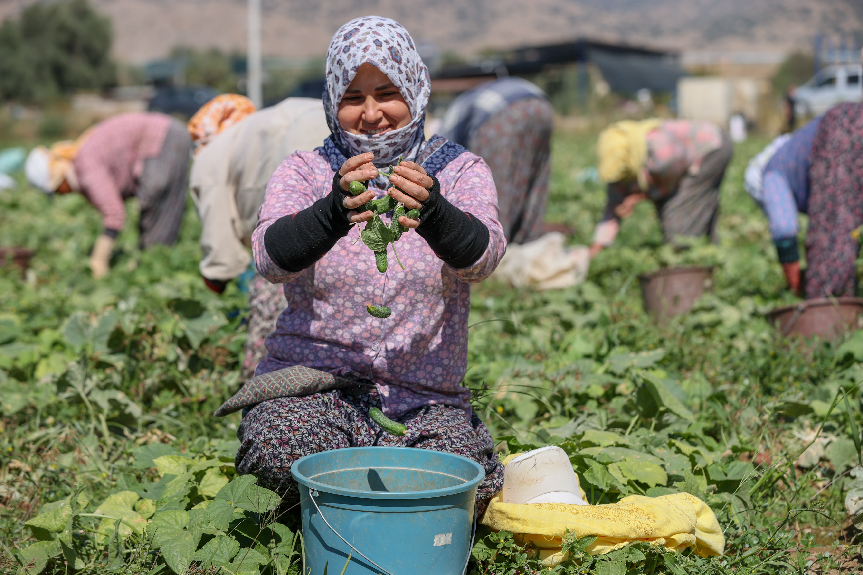
[[[665,241],[678,235],[715,241],[719,186],[732,153],[728,134],[710,122],[626,120],[603,130],[598,171],[608,183],[608,203],[591,257],[614,242],[620,220],[646,199],[656,206]]]

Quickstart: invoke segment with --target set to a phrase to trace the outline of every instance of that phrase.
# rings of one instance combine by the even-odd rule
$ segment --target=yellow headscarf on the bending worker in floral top
[[[603,182],[620,182],[638,178],[642,191],[647,190],[644,175],[647,159],[647,134],[662,123],[657,118],[650,120],[623,120],[614,122],[599,134],[596,154],[599,156],[597,171]]]

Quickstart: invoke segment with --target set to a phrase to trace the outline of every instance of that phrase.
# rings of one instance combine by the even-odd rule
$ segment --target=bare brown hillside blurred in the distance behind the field
[[[0,0],[0,16],[35,0]],[[141,63],[177,45],[243,50],[245,0],[91,0],[109,14],[117,58]],[[808,47],[812,34],[863,32],[861,0],[264,0],[264,53],[326,51],[343,22],[390,16],[415,39],[459,53],[587,35],[677,49]]]

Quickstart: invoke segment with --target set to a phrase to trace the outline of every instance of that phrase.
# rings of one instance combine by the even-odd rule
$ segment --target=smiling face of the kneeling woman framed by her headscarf
[[[411,122],[411,109],[387,75],[366,62],[338,103],[338,123],[351,134],[386,134]]]

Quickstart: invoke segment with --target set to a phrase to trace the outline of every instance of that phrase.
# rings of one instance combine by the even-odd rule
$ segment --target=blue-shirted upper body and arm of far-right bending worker
[[[797,214],[809,213],[809,155],[822,118],[782,134],[749,161],[744,187],[764,210],[791,291],[800,292]]]

